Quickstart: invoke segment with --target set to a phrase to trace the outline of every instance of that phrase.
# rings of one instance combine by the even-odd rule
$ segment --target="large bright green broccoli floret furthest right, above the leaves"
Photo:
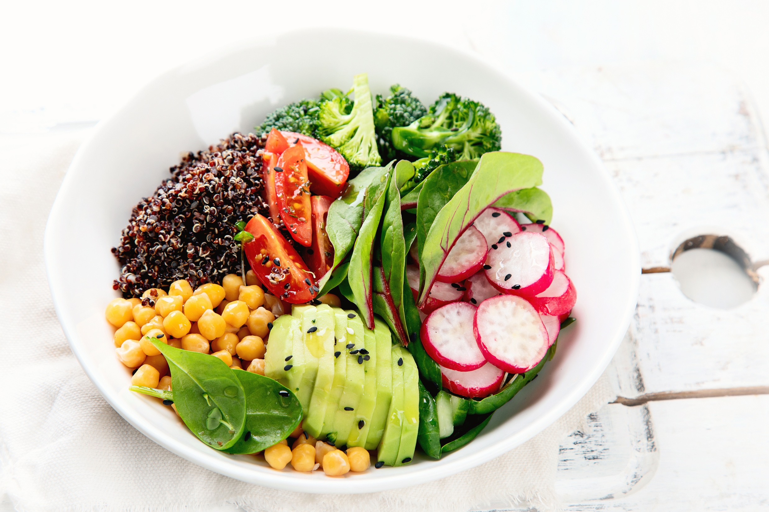
[[[457,160],[472,160],[488,151],[501,149],[502,131],[494,114],[478,101],[444,93],[417,121],[392,129],[396,150],[430,157],[430,150],[446,145],[457,153]]]

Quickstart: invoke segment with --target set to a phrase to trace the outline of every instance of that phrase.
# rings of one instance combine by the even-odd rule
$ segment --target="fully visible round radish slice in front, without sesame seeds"
[[[512,295],[484,300],[475,312],[473,332],[486,360],[510,373],[534,368],[550,341],[534,307]]]

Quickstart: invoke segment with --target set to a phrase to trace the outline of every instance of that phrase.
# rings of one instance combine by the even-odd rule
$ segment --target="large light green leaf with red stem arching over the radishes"
[[[437,171],[431,173],[428,180]],[[417,236],[420,264],[418,304],[427,301],[438,269],[441,268],[451,247],[487,206],[514,190],[536,187],[541,183],[542,163],[539,160],[528,155],[504,151],[484,154],[468,183],[437,213],[435,206],[445,196],[431,193],[431,188],[425,183],[419,193],[417,205],[417,229],[426,230],[426,236],[421,233]],[[421,220],[426,222],[432,216],[429,226],[420,226],[419,209],[422,207],[423,196],[428,204],[424,205]],[[430,200],[433,200],[432,204],[429,203]]]

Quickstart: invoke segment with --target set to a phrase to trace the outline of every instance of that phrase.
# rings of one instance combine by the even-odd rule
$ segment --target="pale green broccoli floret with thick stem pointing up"
[[[345,157],[351,170],[361,170],[381,164],[368,74],[355,75],[353,91],[355,102],[352,108],[349,108],[346,95],[335,95],[321,104],[317,134],[321,140],[335,147],[341,156]]]

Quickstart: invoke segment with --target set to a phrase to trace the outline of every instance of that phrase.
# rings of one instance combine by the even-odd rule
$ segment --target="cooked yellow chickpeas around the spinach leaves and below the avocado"
[[[168,362],[149,341],[157,338],[167,345],[214,355],[230,368],[245,368],[265,375],[265,342],[275,315],[265,309],[265,292],[250,270],[246,286],[235,274],[222,279],[221,286],[207,283],[193,290],[185,280],[171,283],[168,292],[148,289],[141,299],[115,299],[105,311],[115,331],[115,353],[128,368],[135,368],[131,385],[171,389]],[[321,302],[338,306],[339,299],[328,294]],[[349,471],[365,471],[371,457],[364,448],[341,451],[308,436],[299,427],[288,440],[265,449],[265,461],[282,470],[289,463],[295,471],[315,471],[319,467],[332,477]]]

